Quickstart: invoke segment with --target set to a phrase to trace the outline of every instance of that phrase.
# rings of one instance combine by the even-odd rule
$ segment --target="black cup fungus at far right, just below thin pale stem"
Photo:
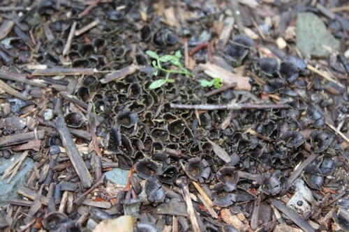
[[[313,130],[310,134],[311,145],[315,153],[322,153],[332,143],[333,134],[325,130]]]

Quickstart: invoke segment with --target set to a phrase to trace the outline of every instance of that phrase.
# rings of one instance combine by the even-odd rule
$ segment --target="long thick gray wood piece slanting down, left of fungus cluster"
[[[89,173],[89,169],[87,169],[84,160],[82,160],[82,157],[75,146],[68,127],[66,126],[64,116],[61,114],[57,116],[56,129],[59,132],[59,136],[61,137],[64,148],[66,148],[69,160],[73,164],[77,176],[79,176],[81,180],[82,186],[85,188],[91,187],[92,177]]]

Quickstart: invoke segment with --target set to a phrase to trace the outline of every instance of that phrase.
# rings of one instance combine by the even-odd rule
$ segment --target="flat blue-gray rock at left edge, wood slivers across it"
[[[10,167],[11,164],[15,162],[22,154],[18,153],[16,155],[13,155],[10,157],[10,159],[6,160],[3,157],[1,157],[1,165],[0,165],[0,173],[3,173],[3,171],[6,171],[8,167]],[[17,198],[17,190],[20,187],[24,187],[24,181],[25,177],[27,176],[27,173],[33,169],[34,167],[34,161],[31,160],[31,158],[27,157],[24,162],[22,162],[22,167],[24,167],[22,170],[18,171],[16,176],[11,180],[10,183],[6,184],[5,180],[0,181],[0,206],[4,206],[7,204],[8,199],[15,199]],[[1,176],[0,176],[1,178]]]

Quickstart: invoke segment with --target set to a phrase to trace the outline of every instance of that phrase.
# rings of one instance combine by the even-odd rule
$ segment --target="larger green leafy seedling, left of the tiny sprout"
[[[152,52],[152,51],[147,51],[145,53],[148,56],[150,56],[151,58],[156,60],[156,61],[151,62],[151,64],[154,66],[154,68],[156,68],[156,70],[153,72],[154,76],[158,75],[159,70],[165,72],[165,74],[166,74],[165,79],[158,79],[155,82],[151,83],[149,86],[150,89],[159,88],[163,84],[174,82],[174,79],[170,79],[171,73],[178,73],[178,74],[192,76],[191,72],[186,70],[186,68],[183,68],[183,66],[179,62],[179,59],[181,59],[181,52],[180,51],[175,52],[174,56],[168,55],[168,54],[163,55],[163,56],[158,56],[158,54],[156,54],[156,52]],[[163,68],[161,63],[165,63],[165,62],[170,62],[170,64],[173,66],[176,66],[177,69],[176,70],[172,70],[172,69],[168,70],[168,69]]]

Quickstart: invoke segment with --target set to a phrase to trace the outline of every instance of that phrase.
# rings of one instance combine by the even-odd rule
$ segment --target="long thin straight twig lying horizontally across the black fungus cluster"
[[[173,109],[197,109],[197,110],[217,110],[217,109],[288,109],[286,104],[222,104],[222,105],[184,105],[184,104],[170,104]]]

